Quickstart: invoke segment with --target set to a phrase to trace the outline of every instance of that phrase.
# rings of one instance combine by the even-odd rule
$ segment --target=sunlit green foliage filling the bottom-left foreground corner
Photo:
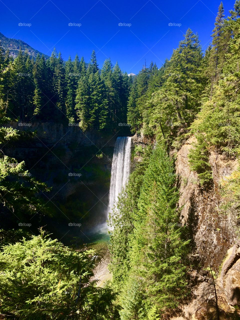
[[[91,281],[94,252],[73,250],[41,230],[0,252],[1,313],[24,319],[118,319],[116,294]]]

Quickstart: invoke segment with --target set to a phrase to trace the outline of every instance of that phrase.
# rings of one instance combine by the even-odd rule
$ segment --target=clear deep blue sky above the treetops
[[[226,16],[234,2],[223,1]],[[219,4],[220,0],[0,0],[0,31],[48,55],[55,46],[64,60],[77,52],[88,61],[94,49],[100,66],[110,57],[124,71],[136,74],[145,59],[147,65],[153,60],[160,67],[170,58],[187,28],[198,32],[205,50]]]

